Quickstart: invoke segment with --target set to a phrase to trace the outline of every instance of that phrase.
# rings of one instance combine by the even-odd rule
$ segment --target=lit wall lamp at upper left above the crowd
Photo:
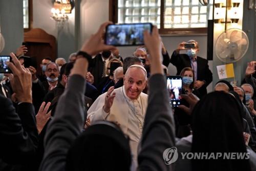
[[[72,0],[55,0],[51,10],[51,18],[56,22],[66,22],[69,20],[69,16],[67,14],[71,13],[73,7],[74,1]]]

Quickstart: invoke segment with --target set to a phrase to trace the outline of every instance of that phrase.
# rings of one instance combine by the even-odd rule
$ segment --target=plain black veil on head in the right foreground
[[[193,153],[246,153],[241,107],[231,94],[214,91],[192,113]],[[193,160],[193,170],[250,170],[249,160]]]

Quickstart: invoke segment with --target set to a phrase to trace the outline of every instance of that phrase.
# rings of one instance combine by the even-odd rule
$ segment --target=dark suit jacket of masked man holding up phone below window
[[[191,67],[190,59],[187,54],[179,54],[175,51],[170,58],[172,63],[177,68],[177,75],[180,74],[181,70],[185,67]],[[212,73],[208,66],[208,61],[197,56],[197,80],[205,81],[205,84],[199,88],[201,96],[207,94],[206,87],[212,82]]]

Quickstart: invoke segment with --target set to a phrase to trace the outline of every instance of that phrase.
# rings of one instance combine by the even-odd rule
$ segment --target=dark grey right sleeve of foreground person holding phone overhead
[[[165,164],[163,152],[175,145],[175,126],[164,76],[152,75],[149,87],[138,170],[170,170],[172,165]]]

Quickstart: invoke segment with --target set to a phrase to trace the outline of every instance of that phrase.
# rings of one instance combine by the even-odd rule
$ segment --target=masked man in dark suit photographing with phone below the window
[[[185,44],[194,44],[191,48],[186,48]],[[206,87],[212,82],[212,73],[208,66],[208,61],[197,56],[199,52],[198,43],[194,40],[182,42],[178,48],[173,52],[170,63],[176,66],[177,75],[185,67],[191,67],[194,70],[194,83],[195,88],[199,90],[203,96],[207,94]],[[180,54],[180,50],[186,50],[186,54]]]

